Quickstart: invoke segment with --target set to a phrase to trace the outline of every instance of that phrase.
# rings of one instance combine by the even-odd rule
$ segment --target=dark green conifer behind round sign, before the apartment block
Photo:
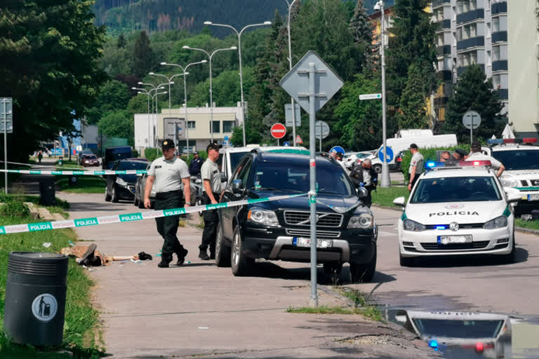
[[[442,131],[455,133],[458,142],[470,142],[470,130],[463,126],[463,116],[472,110],[481,115],[481,126],[474,130],[474,137],[486,139],[501,133],[506,121],[499,120],[505,118],[500,115],[503,105],[499,100],[498,90],[493,90],[492,81],[486,79],[483,69],[479,65],[468,66],[449,98]]]

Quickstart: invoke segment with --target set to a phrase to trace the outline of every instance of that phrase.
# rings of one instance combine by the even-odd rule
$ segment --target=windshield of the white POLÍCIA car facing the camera
[[[411,203],[501,201],[493,177],[441,177],[420,179]]]

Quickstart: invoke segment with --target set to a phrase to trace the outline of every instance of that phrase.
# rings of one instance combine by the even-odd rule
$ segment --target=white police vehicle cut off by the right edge
[[[539,146],[536,138],[488,140],[493,146],[483,147],[505,166],[500,177],[504,187],[519,191],[521,201],[515,207],[517,215],[539,210]]]

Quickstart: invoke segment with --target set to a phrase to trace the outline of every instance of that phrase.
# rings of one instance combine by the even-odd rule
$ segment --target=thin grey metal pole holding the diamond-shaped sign
[[[310,177],[311,186],[309,191],[309,202],[311,208],[311,304],[318,307],[318,295],[317,295],[317,160],[314,156],[316,151],[316,139],[314,133],[314,122],[316,120],[316,111],[314,110],[314,76],[316,72],[314,69],[314,63],[309,63],[309,147],[310,147]]]

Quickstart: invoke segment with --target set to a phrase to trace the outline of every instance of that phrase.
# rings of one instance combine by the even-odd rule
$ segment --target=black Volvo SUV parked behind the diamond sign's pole
[[[349,262],[352,281],[368,282],[375,272],[378,236],[372,212],[333,158],[317,156],[316,161],[317,262],[333,276]],[[307,193],[309,171],[308,151],[254,149],[241,158],[220,201]],[[256,258],[310,262],[307,196],[220,208],[219,213],[215,262],[231,265],[235,276],[247,274]]]

